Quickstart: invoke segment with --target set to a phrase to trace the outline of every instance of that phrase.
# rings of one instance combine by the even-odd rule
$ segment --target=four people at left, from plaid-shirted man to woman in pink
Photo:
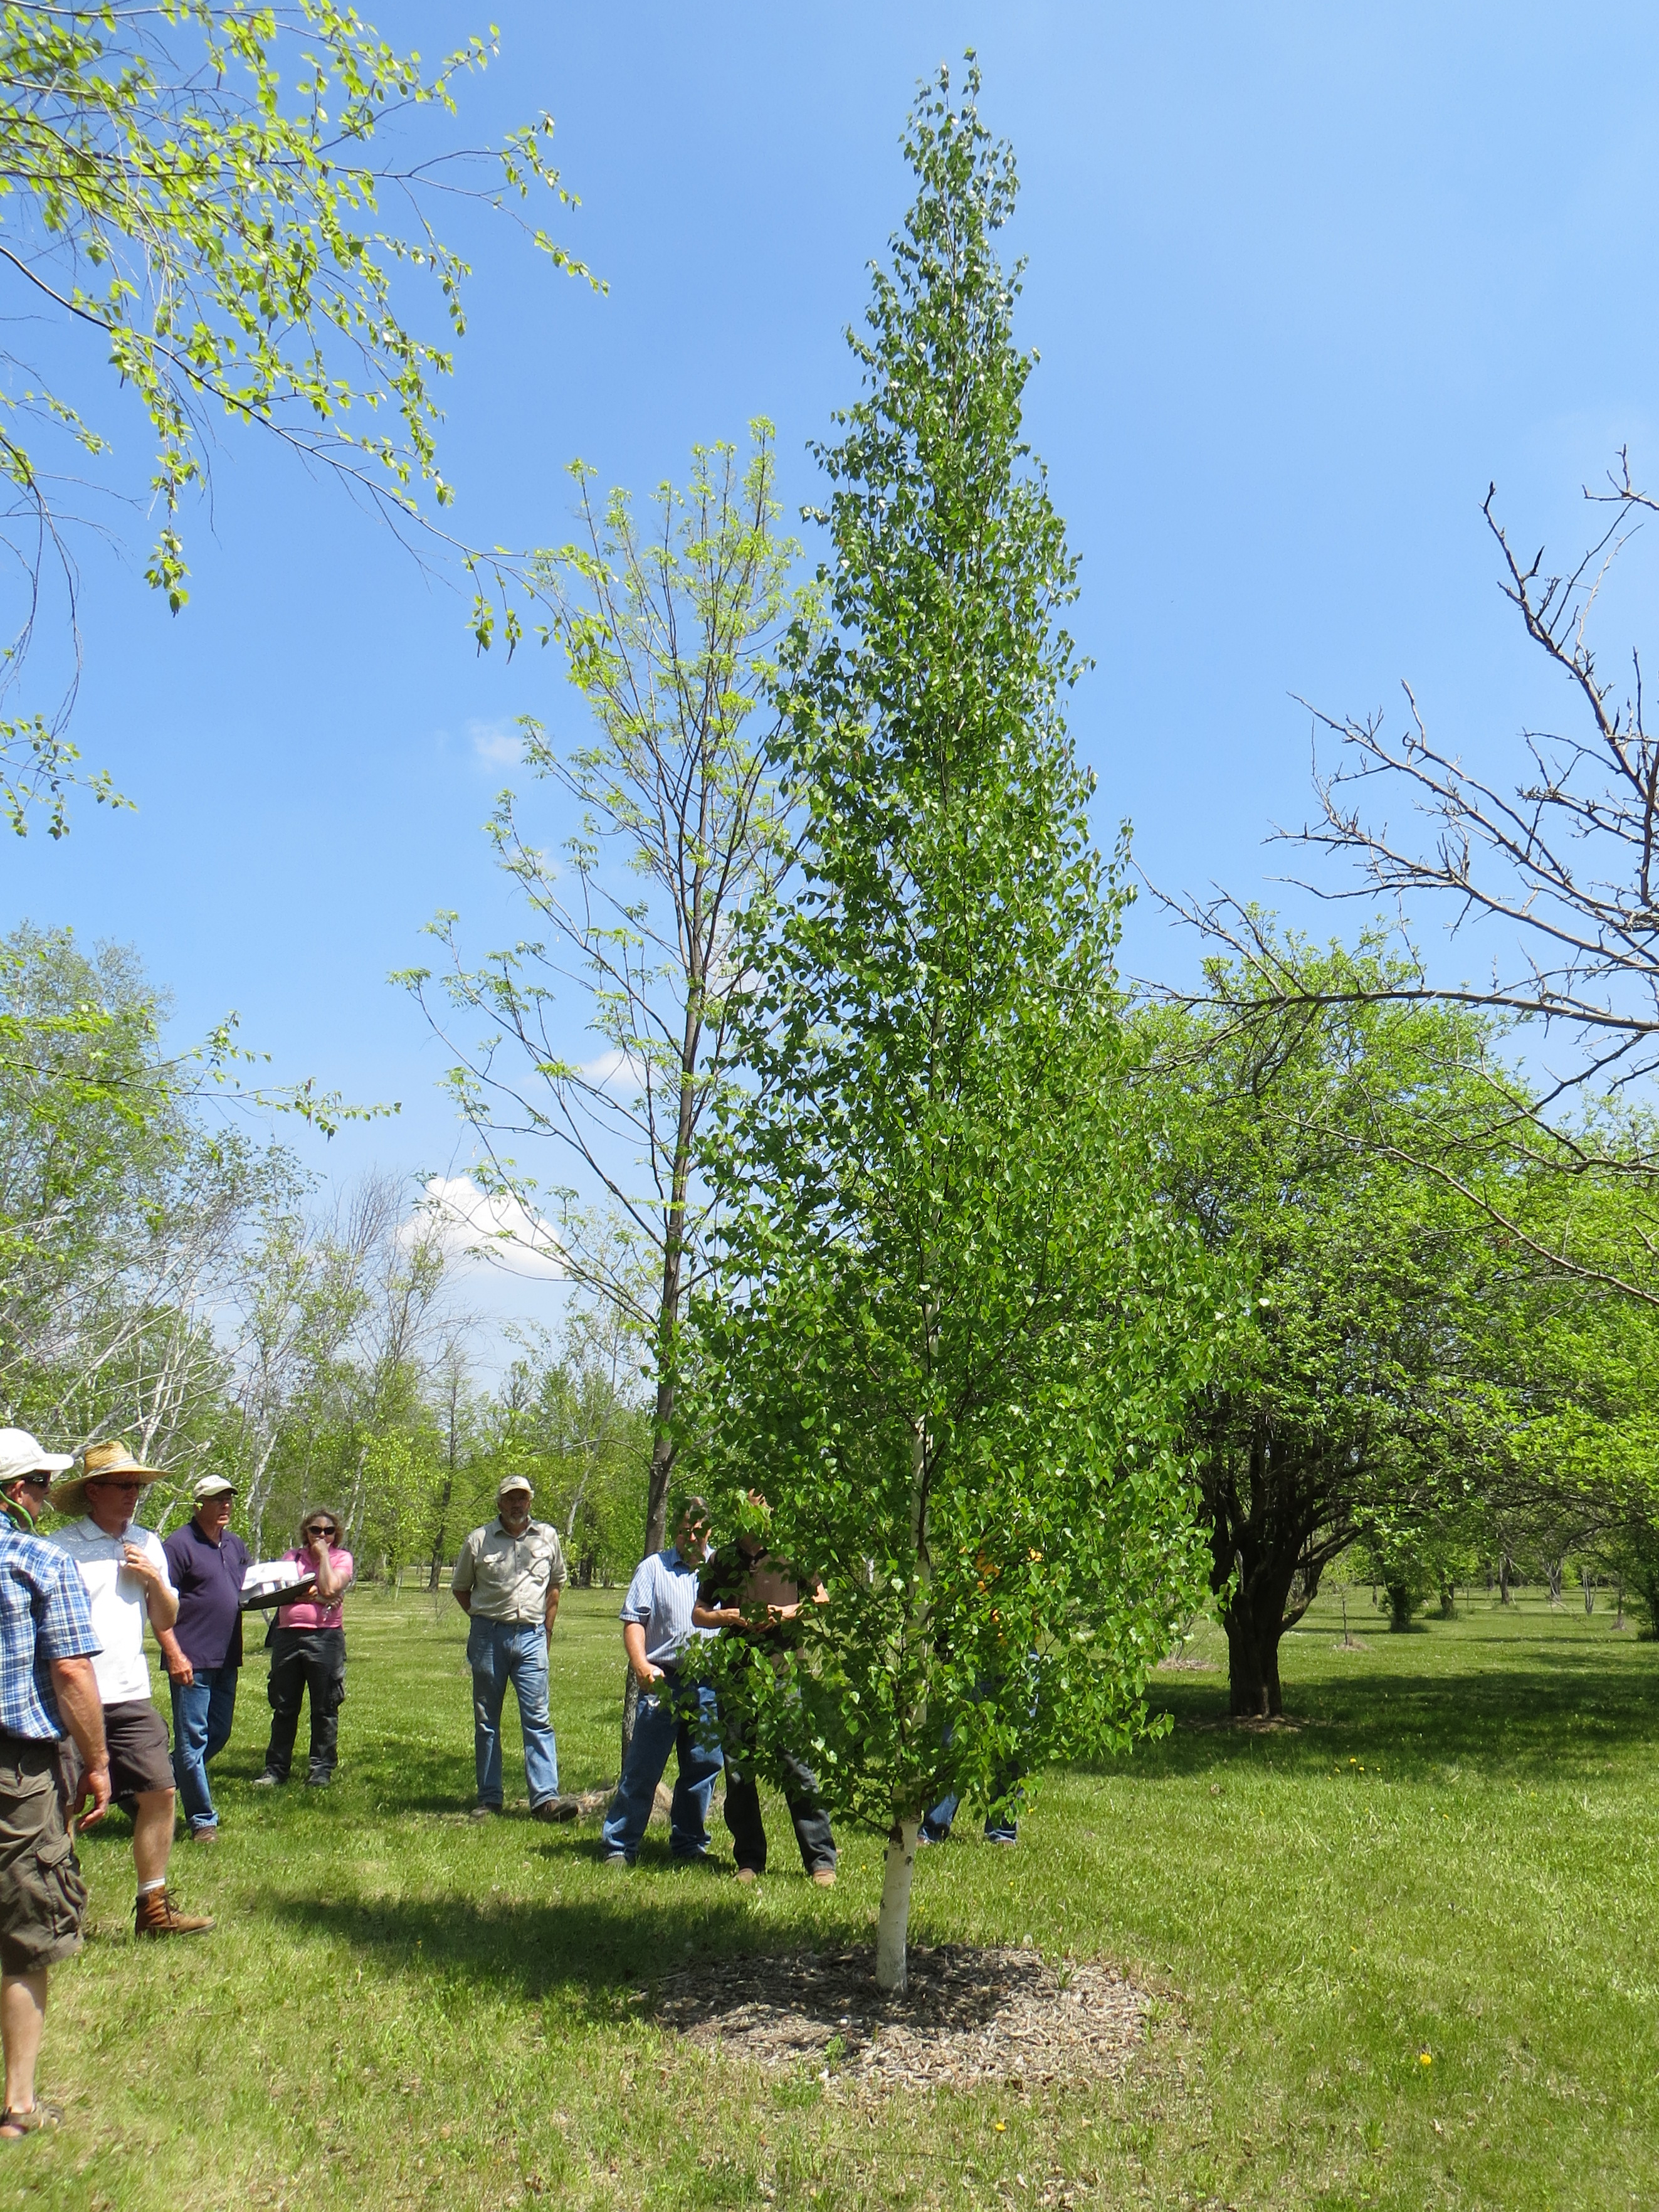
[[[58,2124],[35,2097],[46,1978],[80,1951],[86,1882],[73,1829],[102,1820],[111,1798],[133,1818],[139,1938],[204,1936],[166,1882],[177,1805],[192,1843],[215,1843],[208,1763],[230,1741],[241,1670],[248,1548],[230,1531],[237,1495],[204,1475],[195,1511],[166,1544],[137,1520],[139,1493],[161,1480],[126,1444],[88,1444],[80,1462],[44,1451],[27,1429],[0,1429],[0,2139]],[[64,1526],[42,1535],[46,1509]],[[303,1599],[272,1624],[272,1728],[261,1783],[288,1781],[299,1710],[312,1697],[310,1781],[334,1774],[345,1694],[341,1597],[352,1555],[338,1522],[307,1513]],[[168,1670],[173,1745],[150,1697],[144,1624]]]

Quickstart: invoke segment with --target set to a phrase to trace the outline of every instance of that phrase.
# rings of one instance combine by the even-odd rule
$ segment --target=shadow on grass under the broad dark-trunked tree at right
[[[1155,1708],[1175,1730],[1137,1745],[1148,1776],[1206,1774],[1223,1765],[1274,1765],[1283,1772],[1329,1767],[1340,1756],[1378,1761],[1389,1774],[1436,1778],[1447,1765],[1526,1772],[1571,1783],[1606,1774],[1608,1763],[1659,1750],[1655,1668],[1632,1668],[1595,1652],[1564,1650],[1548,1666],[1506,1661],[1436,1672],[1376,1668],[1334,1681],[1292,1681],[1287,1723],[1252,1730],[1228,1723],[1225,1677],[1203,1683],[1159,1681]],[[1079,1763],[1086,1774],[1121,1774],[1121,1761]]]

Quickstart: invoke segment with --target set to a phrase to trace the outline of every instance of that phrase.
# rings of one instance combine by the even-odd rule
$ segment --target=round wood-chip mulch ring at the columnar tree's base
[[[909,1986],[889,1997],[876,1989],[874,1947],[860,1944],[710,1958],[637,1991],[635,2004],[703,2048],[883,2095],[1121,2075],[1148,1997],[1115,1966],[969,1944],[911,1944]]]

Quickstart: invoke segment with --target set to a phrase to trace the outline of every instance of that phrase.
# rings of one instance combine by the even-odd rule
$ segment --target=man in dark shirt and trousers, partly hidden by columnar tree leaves
[[[743,1528],[732,1544],[723,1544],[701,1573],[692,1624],[697,1628],[719,1628],[726,1637],[743,1637],[765,1663],[768,1650],[794,1648],[801,1641],[803,1601],[823,1604],[825,1590],[814,1582],[807,1590],[803,1577],[765,1548],[765,1498],[750,1491],[754,1528]],[[721,1690],[721,1745],[726,1750],[726,1827],[732,1832],[739,1882],[754,1882],[765,1874],[765,1823],[761,1820],[761,1790],[754,1774],[754,1712],[741,1701],[741,1692]],[[836,1880],[836,1838],[830,1832],[830,1816],[818,1805],[818,1776],[792,1752],[779,1752],[779,1781],[783,1801],[794,1823],[794,1840],[801,1847],[801,1865],[818,1889],[832,1889]]]

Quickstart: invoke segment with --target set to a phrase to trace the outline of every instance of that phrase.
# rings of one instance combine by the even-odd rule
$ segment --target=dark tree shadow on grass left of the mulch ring
[[[723,1869],[721,1869],[723,1871]],[[270,1916],[296,1936],[345,1944],[387,1973],[465,1975],[480,1986],[577,2000],[591,2017],[633,2017],[633,1993],[692,1966],[699,1955],[838,1949],[865,1936],[843,1927],[757,1920],[710,1867],[615,1874],[615,1896],[491,1898],[272,1898]],[[816,1891],[814,1891],[816,1896]]]

